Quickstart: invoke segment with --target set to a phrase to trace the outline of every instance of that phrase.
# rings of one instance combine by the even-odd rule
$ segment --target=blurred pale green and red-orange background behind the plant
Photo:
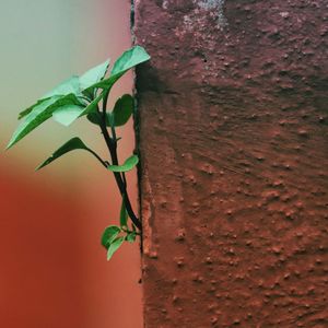
[[[3,151],[19,112],[130,47],[130,1],[2,0],[0,45],[1,327],[142,327],[139,245],[125,245],[107,262],[99,244],[119,215],[110,174],[83,151],[34,172],[75,136],[107,156],[97,127],[49,120]],[[131,74],[122,78],[112,104],[131,85]],[[125,160],[134,145],[132,122],[118,134]],[[128,178],[137,210],[136,174]]]

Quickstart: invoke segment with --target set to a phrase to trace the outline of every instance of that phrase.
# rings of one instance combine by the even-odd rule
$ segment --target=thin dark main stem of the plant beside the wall
[[[110,154],[112,164],[118,165],[116,134],[113,133],[114,138],[110,138],[107,127],[106,127],[106,106],[107,106],[108,94],[109,94],[109,91],[106,91],[104,98],[103,98],[103,113],[102,113],[102,119],[99,121],[99,127],[101,127],[102,133],[104,136],[106,145],[107,145],[109,154]],[[113,128],[112,128],[112,132],[113,132]],[[115,132],[115,130],[114,130],[114,132]],[[128,196],[128,191],[127,191],[126,179],[125,178],[122,179],[121,175],[118,172],[114,172],[114,177],[115,177],[116,184],[118,186],[118,189],[120,191],[120,195],[125,201],[125,206],[126,206],[127,212],[128,212],[131,221],[141,231],[142,225],[141,225],[140,220],[137,218],[137,215],[133,212],[133,209],[132,209],[129,196]]]

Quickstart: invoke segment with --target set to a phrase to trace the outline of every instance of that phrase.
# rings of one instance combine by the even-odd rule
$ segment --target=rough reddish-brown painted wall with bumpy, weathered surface
[[[145,327],[327,327],[327,1],[136,1]]]

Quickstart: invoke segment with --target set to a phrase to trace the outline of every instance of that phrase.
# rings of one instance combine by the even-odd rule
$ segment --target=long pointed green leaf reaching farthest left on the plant
[[[13,133],[7,149],[19,142],[22,138],[46,121],[52,116],[52,113],[66,105],[79,105],[80,102],[74,94],[68,94],[66,96],[52,96],[39,105],[35,106],[32,112],[25,116],[25,120],[17,127]]]

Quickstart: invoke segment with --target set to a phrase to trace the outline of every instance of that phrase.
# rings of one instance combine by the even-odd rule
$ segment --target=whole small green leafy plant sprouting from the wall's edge
[[[50,164],[70,151],[79,149],[90,152],[106,169],[114,174],[122,201],[118,225],[107,226],[102,236],[102,245],[107,249],[108,260],[125,241],[132,243],[137,235],[141,235],[142,225],[131,207],[126,179],[126,172],[132,169],[138,164],[139,159],[132,154],[122,164],[119,164],[117,155],[119,138],[116,136],[116,127],[124,126],[129,120],[133,113],[134,99],[131,95],[125,94],[117,99],[110,112],[107,110],[107,99],[113,85],[128,70],[149,59],[150,56],[142,47],[134,46],[115,61],[107,77],[109,60],[89,70],[81,77],[71,77],[40,97],[34,105],[20,113],[19,119],[23,119],[23,121],[7,147],[7,149],[11,148],[51,117],[65,126],[70,126],[78,118],[85,117],[99,127],[109,152],[108,161],[103,160],[80,138],[74,137],[55,151],[36,169]]]

